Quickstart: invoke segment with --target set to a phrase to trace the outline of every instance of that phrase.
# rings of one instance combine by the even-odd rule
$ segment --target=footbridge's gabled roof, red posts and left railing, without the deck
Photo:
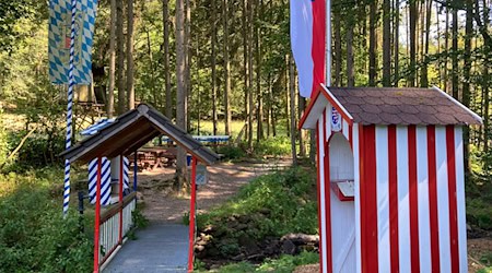
[[[152,139],[165,134],[178,146],[186,150],[192,156],[191,162],[191,201],[190,201],[190,225],[189,225],[189,257],[188,268],[192,270],[194,242],[195,242],[195,203],[196,203],[196,166],[197,162],[211,165],[219,159],[219,156],[203,147],[200,142],[194,140],[181,129],[177,128],[153,107],[141,104],[136,109],[119,116],[112,124],[101,129],[97,133],[84,139],[61,155],[70,163],[89,163],[93,158],[98,158],[97,167],[97,193],[95,206],[94,225],[94,272],[99,271],[99,266],[115,250],[122,245],[124,230],[128,226],[125,219],[130,217],[131,211],[127,210],[126,201],[122,198],[122,167],[119,176],[119,205],[116,213],[109,217],[101,217],[101,158],[122,158],[134,153],[139,147]],[[136,153],[134,153],[136,154]],[[122,166],[122,159],[120,161]],[[129,216],[128,216],[129,215]],[[102,232],[103,230],[103,232]],[[108,233],[109,230],[109,233]],[[112,232],[113,230],[113,232]],[[101,250],[101,241],[108,246]]]

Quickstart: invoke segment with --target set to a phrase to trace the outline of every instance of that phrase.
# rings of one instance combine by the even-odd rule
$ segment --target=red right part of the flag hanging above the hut
[[[313,92],[325,82],[326,2],[313,0]]]

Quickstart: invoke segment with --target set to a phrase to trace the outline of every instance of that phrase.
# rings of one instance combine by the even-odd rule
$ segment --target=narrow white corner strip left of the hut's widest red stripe
[[[361,273],[361,194],[360,194],[360,147],[359,147],[359,124],[354,123],[352,126],[352,147],[353,147],[353,169],[354,169],[354,205],[355,205],[355,272]]]

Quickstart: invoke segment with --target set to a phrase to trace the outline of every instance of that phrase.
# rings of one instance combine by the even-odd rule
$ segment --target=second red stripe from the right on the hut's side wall
[[[429,216],[431,217],[432,272],[441,272],[440,224],[437,221],[437,167],[435,157],[435,126],[427,126]]]

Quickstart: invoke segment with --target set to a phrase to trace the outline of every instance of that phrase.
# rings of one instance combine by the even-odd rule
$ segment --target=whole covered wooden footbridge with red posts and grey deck
[[[191,156],[191,200],[189,227],[179,225],[152,225],[137,234],[139,240],[127,241],[133,226],[136,210],[137,166],[133,168],[133,187],[125,186],[124,158],[160,135],[167,135]],[[197,164],[211,165],[219,156],[177,128],[153,107],[141,104],[119,116],[114,122],[98,128],[61,154],[70,163],[97,162],[94,218],[93,272],[190,272],[194,266],[196,230],[196,169]],[[110,188],[114,204],[103,207],[103,158],[110,162]],[[137,159],[137,158],[136,158]],[[106,167],[107,168],[107,167]],[[116,178],[115,178],[116,177]],[[127,244],[125,244],[127,242]],[[160,244],[157,244],[160,242]],[[118,253],[118,254],[116,254]]]

